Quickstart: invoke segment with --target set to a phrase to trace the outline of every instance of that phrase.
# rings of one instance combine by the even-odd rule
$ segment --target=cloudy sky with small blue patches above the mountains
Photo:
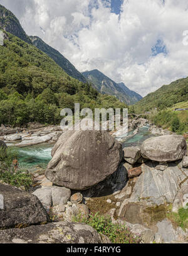
[[[142,96],[188,76],[187,0],[0,3],[80,72],[98,69]]]

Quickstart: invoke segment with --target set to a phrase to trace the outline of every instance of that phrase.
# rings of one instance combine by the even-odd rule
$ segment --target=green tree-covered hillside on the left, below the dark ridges
[[[62,108],[123,108],[113,96],[102,96],[90,84],[70,77],[48,55],[4,31],[0,47],[0,123],[30,121],[59,124]]]

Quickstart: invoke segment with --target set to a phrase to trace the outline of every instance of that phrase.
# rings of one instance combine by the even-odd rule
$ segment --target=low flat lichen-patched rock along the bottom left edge
[[[1,243],[103,243],[91,226],[54,222],[46,225],[0,230]]]

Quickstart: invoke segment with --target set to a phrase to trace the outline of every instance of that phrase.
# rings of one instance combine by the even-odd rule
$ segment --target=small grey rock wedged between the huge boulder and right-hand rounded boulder
[[[123,148],[124,159],[129,164],[135,164],[141,157],[141,150],[139,147],[127,147]]]

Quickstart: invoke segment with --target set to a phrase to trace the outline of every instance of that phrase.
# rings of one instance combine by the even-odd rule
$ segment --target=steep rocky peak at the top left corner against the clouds
[[[25,31],[21,27],[19,20],[14,16],[11,11],[4,8],[0,4],[0,28],[9,33],[13,34],[14,36],[18,36],[21,40],[26,43],[31,43],[29,36],[26,35]]]

